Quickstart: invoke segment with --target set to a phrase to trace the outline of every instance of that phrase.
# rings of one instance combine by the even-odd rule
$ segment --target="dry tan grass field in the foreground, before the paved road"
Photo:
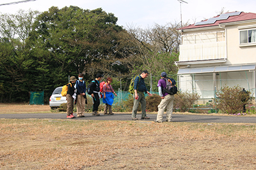
[[[256,169],[255,124],[0,119],[0,129],[0,169]]]

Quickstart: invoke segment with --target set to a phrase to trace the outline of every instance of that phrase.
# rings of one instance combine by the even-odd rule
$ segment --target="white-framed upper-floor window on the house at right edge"
[[[240,44],[256,43],[256,29],[240,31]]]

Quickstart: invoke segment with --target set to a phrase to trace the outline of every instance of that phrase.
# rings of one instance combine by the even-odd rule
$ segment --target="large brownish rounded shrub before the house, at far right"
[[[251,92],[242,92],[242,87],[223,87],[216,93],[212,106],[227,114],[236,114],[243,111],[243,105],[252,102]]]

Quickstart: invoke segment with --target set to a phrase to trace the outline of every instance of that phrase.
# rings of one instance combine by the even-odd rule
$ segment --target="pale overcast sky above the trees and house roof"
[[[178,0],[36,0],[28,3],[1,5],[24,0],[1,0],[1,13],[17,13],[22,9],[28,11],[48,11],[51,6],[59,9],[65,6],[78,6],[84,10],[102,8],[107,13],[113,13],[118,18],[118,25],[131,25],[148,28],[154,24],[165,25],[169,22],[180,23],[180,3]],[[256,0],[184,0],[181,3],[182,23],[194,24],[205,18],[218,15],[221,8],[224,11],[244,11],[256,13]]]

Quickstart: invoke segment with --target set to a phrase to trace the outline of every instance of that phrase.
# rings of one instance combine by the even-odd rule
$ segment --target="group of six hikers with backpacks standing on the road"
[[[146,99],[145,94],[152,96],[148,92],[145,85],[145,78],[148,76],[148,71],[143,71],[140,75],[134,78],[132,84],[133,87],[133,108],[132,108],[132,120],[138,120],[136,118],[139,103],[141,103],[141,119],[150,119],[147,117],[146,113]],[[77,105],[77,117],[84,117],[85,104],[87,104],[86,92],[88,95],[92,96],[93,99],[93,110],[92,115],[100,116],[98,108],[100,105],[100,98],[102,97],[102,102],[106,105],[104,106],[104,115],[113,115],[112,104],[114,95],[116,95],[113,90],[111,83],[112,78],[108,77],[106,82],[103,81],[102,88],[100,90],[100,80],[102,80],[102,74],[97,74],[95,80],[93,80],[90,85],[86,88],[86,83],[83,80],[83,74],[79,73],[78,79],[76,76],[70,77],[70,83],[68,83],[67,90],[67,118],[76,118],[74,116],[74,100]],[[161,103],[158,105],[157,119],[156,122],[163,122],[163,113],[166,109],[166,122],[171,122],[172,111],[173,111],[173,101],[174,94],[173,87],[175,87],[177,92],[176,82],[173,78],[168,78],[165,72],[161,73],[161,78],[157,83],[159,96],[161,97]],[[170,87],[169,87],[170,86]],[[169,90],[168,90],[169,89]]]

